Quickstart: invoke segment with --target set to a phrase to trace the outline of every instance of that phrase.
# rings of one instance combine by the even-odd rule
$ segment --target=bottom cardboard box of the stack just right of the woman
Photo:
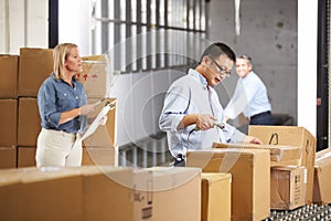
[[[82,165],[118,166],[118,147],[83,148]]]

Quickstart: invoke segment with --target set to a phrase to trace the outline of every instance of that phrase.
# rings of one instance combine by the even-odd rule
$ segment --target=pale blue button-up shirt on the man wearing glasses
[[[218,122],[225,123],[223,107],[216,91],[207,86],[206,80],[195,70],[190,70],[188,75],[172,83],[166,94],[160,115],[160,129],[167,131],[168,145],[174,157],[179,154],[185,156],[186,149],[212,148],[215,141],[242,141],[245,137],[243,133],[227,124],[224,129],[214,127],[191,134],[195,124],[178,129],[182,118],[189,114],[210,114]]]

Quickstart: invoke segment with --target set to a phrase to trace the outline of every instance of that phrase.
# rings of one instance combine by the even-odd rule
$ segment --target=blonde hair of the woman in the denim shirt
[[[73,48],[78,48],[74,43],[62,43],[57,44],[53,51],[54,66],[53,71],[55,73],[55,78],[62,78],[64,76],[64,62],[67,59],[71,50]]]

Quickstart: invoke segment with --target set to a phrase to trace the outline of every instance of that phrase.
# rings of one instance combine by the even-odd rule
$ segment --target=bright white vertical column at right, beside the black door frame
[[[298,126],[317,129],[318,1],[298,0]]]

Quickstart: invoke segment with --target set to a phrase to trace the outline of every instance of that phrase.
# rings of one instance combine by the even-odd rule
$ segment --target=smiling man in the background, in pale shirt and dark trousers
[[[236,72],[239,78],[224,110],[226,120],[234,119],[243,113],[249,118],[249,125],[274,125],[267,88],[254,73],[252,59],[247,55],[238,56]]]

